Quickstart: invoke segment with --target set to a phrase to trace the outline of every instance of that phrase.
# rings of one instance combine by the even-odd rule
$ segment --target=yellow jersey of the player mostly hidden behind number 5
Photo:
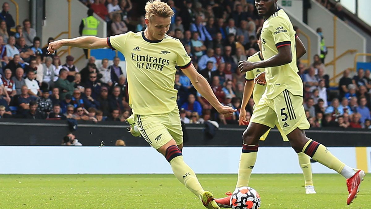
[[[250,62],[259,62],[262,60],[263,58],[260,57],[260,51],[256,52],[254,55],[247,58],[247,61],[250,61]],[[260,73],[264,71],[265,71],[265,68],[256,68],[252,71],[247,71],[245,78],[246,80],[253,80],[256,77],[256,75],[259,75]],[[266,89],[266,86],[255,84],[254,90],[253,90],[253,100],[255,104],[257,104],[260,98],[262,98],[265,92],[265,89]]]

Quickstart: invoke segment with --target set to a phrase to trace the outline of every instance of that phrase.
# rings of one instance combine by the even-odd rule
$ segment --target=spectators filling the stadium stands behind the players
[[[144,8],[140,1],[81,1],[107,21],[109,35],[145,29],[144,10],[137,9]],[[253,2],[167,1],[175,13],[168,35],[180,39],[219,101],[237,110],[245,82],[245,75],[237,70],[238,62],[259,51],[256,30],[263,19],[257,15]],[[112,65],[108,65],[108,59],[97,65],[95,58],[90,57],[86,67],[79,70],[70,55],[65,62],[56,55],[47,55],[46,46],[40,45],[29,20],[12,32],[15,25],[8,11],[9,4],[4,3],[1,15],[6,18],[0,20],[0,84],[5,91],[0,88],[0,118],[125,121],[131,109],[118,57]],[[317,32],[321,35],[322,30]],[[51,41],[53,38],[47,43]],[[354,77],[345,70],[338,90],[330,90],[324,57],[325,54],[315,55],[309,66],[298,61],[304,86],[303,105],[311,127],[371,129],[370,70],[358,69]],[[183,123],[216,120],[220,124],[238,124],[239,111],[229,118],[219,115],[180,70],[175,75],[175,89]],[[251,98],[246,107],[247,121],[253,105]]]

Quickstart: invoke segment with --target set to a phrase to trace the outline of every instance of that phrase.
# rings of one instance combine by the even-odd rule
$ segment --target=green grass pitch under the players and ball
[[[196,196],[173,175],[0,175],[0,208],[202,209]],[[198,175],[216,197],[233,190],[237,175]],[[253,174],[261,208],[371,208],[371,180],[347,206],[347,188],[337,174],[315,174],[317,194],[305,194],[301,174]]]

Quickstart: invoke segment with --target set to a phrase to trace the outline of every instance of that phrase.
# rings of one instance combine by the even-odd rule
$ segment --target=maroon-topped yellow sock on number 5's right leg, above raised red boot
[[[306,142],[302,151],[309,155],[309,157],[312,157],[313,160],[318,161],[322,165],[325,165],[338,173],[341,173],[345,166],[345,164],[332,155],[324,145],[319,144],[312,139]]]

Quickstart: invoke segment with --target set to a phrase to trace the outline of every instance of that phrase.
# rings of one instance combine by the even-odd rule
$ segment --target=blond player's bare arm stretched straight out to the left
[[[73,46],[83,49],[99,49],[109,47],[107,38],[99,38],[95,36],[81,36],[72,39],[61,39],[49,43],[47,48],[49,54],[53,54],[55,50],[62,46]]]

